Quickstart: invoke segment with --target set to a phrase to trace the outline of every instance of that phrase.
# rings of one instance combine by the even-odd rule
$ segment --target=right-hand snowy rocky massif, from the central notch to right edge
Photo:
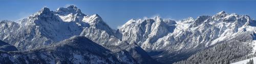
[[[159,61],[173,62],[242,33],[250,34],[248,41],[254,44],[255,23],[248,15],[222,11],[214,16],[189,17],[178,22],[160,17],[132,19],[119,31],[123,41],[136,42]]]

